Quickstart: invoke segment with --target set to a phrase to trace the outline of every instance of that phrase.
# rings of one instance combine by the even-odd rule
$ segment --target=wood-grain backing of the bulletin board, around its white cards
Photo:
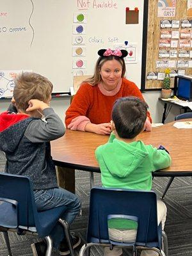
[[[159,2],[172,2],[172,1],[159,1]],[[159,3],[161,4],[161,3]],[[147,26],[147,56],[146,56],[146,76],[149,72],[164,72],[164,67],[157,68],[156,61],[162,60],[191,60],[191,58],[179,58],[178,54],[180,50],[183,51],[190,51],[191,47],[159,47],[159,40],[160,40],[160,33],[161,31],[180,31],[183,29],[181,25],[179,28],[160,28],[160,20],[185,20],[191,19],[187,17],[187,5],[188,0],[178,0],[176,1],[176,11],[175,17],[157,17],[157,8],[158,8],[158,1],[157,0],[148,0],[148,26]],[[167,39],[167,38],[166,38]],[[184,38],[182,38],[184,39]],[[189,39],[189,38],[188,38]],[[179,39],[176,39],[179,41]],[[177,58],[159,58],[159,50],[175,50],[177,51]],[[177,65],[176,65],[177,66]],[[185,70],[186,75],[191,75],[192,68],[189,67],[170,67],[171,70]],[[171,86],[173,87],[174,79],[171,78]],[[162,88],[163,81],[159,81],[157,79],[149,79],[146,80],[145,88]]]

